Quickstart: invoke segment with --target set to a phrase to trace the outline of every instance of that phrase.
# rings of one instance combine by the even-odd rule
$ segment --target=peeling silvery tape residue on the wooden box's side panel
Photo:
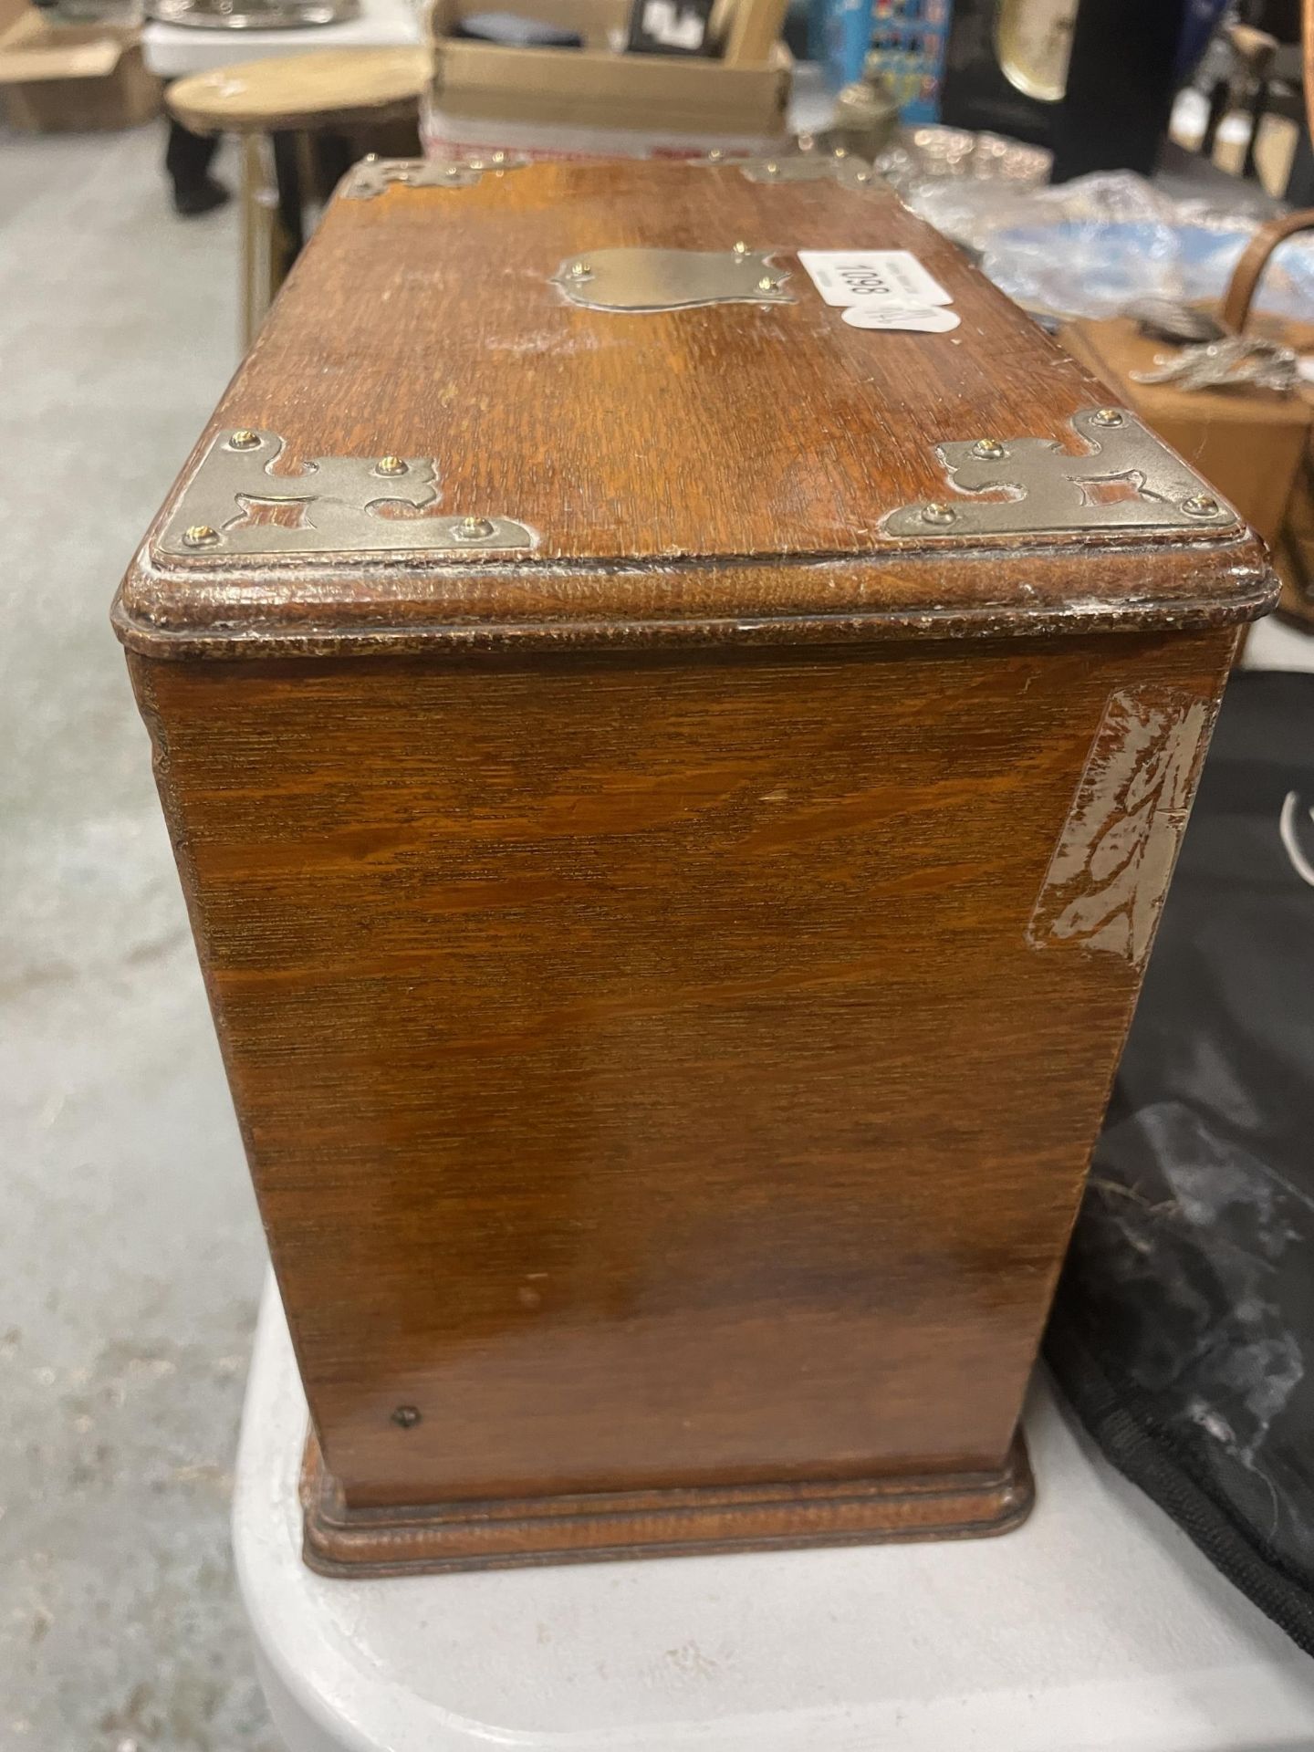
[[[1141,967],[1190,813],[1212,704],[1181,689],[1109,697],[1027,941],[1077,944]]]

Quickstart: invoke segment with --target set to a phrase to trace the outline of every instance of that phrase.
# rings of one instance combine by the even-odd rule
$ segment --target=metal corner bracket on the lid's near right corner
[[[1088,452],[1048,438],[941,443],[944,484],[964,498],[904,505],[885,533],[957,541],[962,536],[1081,534],[1123,529],[1228,529],[1240,519],[1127,408],[1083,408],[1072,429]],[[1004,494],[965,498],[967,494]]]

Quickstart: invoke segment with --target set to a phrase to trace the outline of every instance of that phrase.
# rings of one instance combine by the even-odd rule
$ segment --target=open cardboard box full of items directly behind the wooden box
[[[659,151],[699,152],[708,145],[769,144],[785,133],[792,60],[776,44],[760,63],[731,65],[701,56],[625,54],[629,5],[617,0],[536,0],[533,16],[576,30],[582,49],[508,47],[452,37],[468,0],[438,0],[431,12],[434,46],[434,135],[450,140],[506,124],[526,145],[526,130],[561,130],[604,151],[624,152],[625,137],[662,142]],[[475,124],[471,128],[471,124]],[[587,151],[587,144],[583,145]],[[636,152],[643,156],[643,152]]]

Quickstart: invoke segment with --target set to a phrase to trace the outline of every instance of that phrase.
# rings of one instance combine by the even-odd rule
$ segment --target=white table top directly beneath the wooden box
[[[1314,1661],[1037,1384],[1039,1500],[1000,1538],[326,1580],[277,1295],[233,1533],[291,1752],[1277,1752]]]

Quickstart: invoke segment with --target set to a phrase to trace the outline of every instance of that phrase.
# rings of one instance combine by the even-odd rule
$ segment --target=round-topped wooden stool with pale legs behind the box
[[[429,70],[424,47],[315,49],[215,67],[168,88],[184,128],[242,137],[245,345],[301,249],[307,186],[324,196],[324,182],[364,151],[413,156]]]

